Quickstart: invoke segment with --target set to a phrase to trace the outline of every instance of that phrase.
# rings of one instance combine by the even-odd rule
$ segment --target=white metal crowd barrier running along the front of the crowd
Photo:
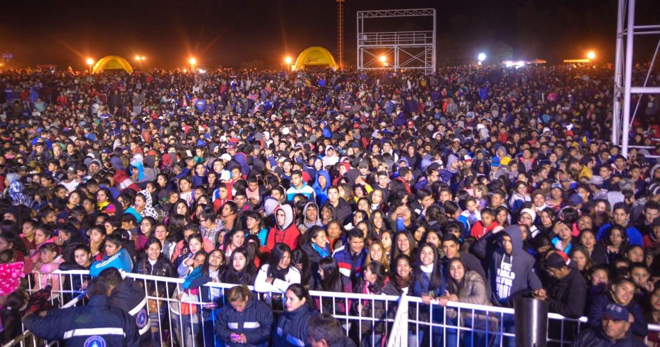
[[[51,303],[54,307],[85,305],[82,297],[88,271],[33,273],[33,277],[28,276],[26,290],[30,293],[38,290],[35,284],[46,283],[44,276],[49,276],[49,283],[53,284]],[[126,273],[126,276],[145,289],[150,318],[147,326],[154,343],[186,347],[220,345],[213,334],[214,312],[225,305],[224,293],[234,287],[233,284],[209,282],[196,293],[190,293],[183,291],[183,279],[136,273]],[[282,293],[256,295],[272,307],[276,323],[284,307]],[[361,341],[359,346],[513,346],[515,338],[511,308],[465,302],[447,302],[443,307],[435,300],[424,305],[421,298],[406,295],[310,291],[310,296],[320,312],[329,312],[342,323],[347,336]],[[358,305],[370,309],[359,312]],[[586,326],[586,317],[572,319],[550,313],[548,345],[568,346]],[[649,325],[649,330],[660,332],[660,325]],[[22,337],[3,347],[46,345],[29,333]]]

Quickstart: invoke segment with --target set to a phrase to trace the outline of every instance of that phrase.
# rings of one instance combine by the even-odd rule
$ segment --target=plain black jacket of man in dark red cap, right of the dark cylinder
[[[575,268],[561,280],[550,285],[546,301],[550,304],[550,312],[561,314],[568,318],[580,318],[586,304],[586,282]]]

